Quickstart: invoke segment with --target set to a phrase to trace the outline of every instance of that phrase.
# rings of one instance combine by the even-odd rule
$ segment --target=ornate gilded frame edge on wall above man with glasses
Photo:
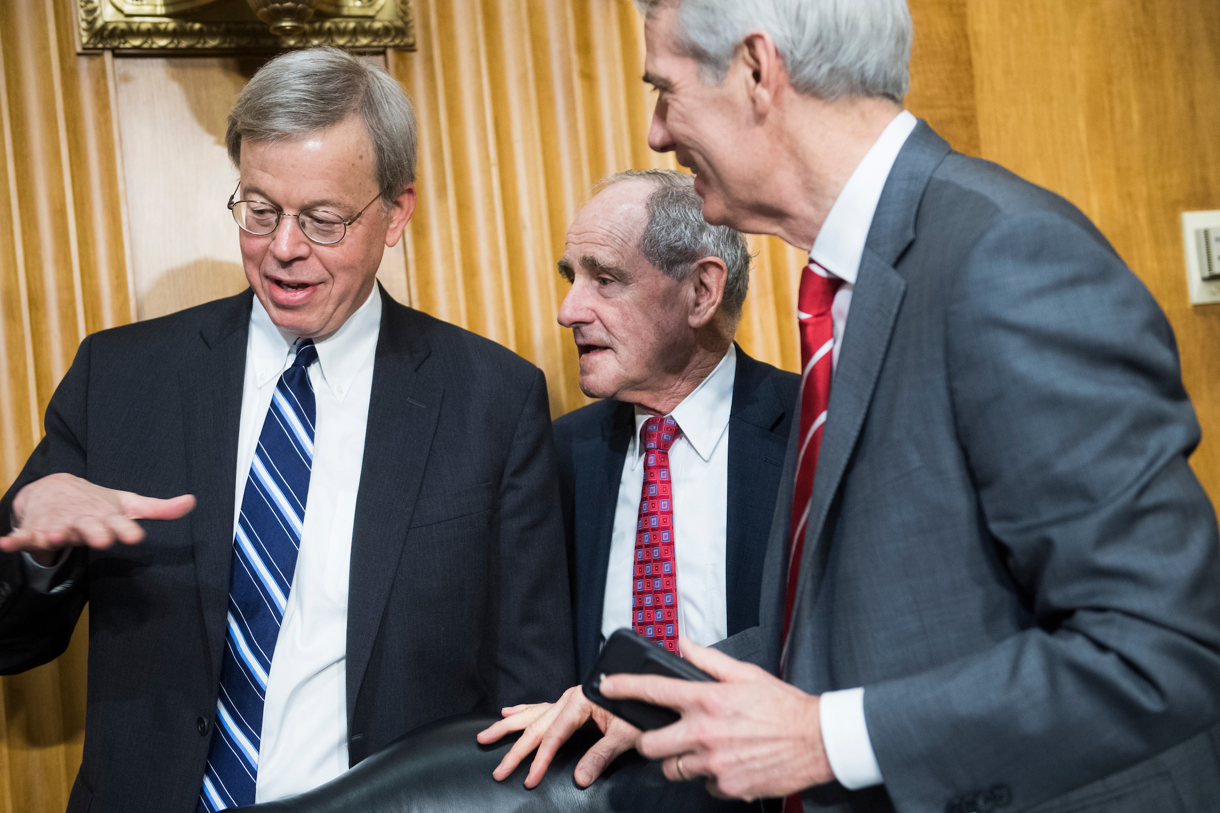
[[[81,52],[415,50],[410,0],[77,0]]]

